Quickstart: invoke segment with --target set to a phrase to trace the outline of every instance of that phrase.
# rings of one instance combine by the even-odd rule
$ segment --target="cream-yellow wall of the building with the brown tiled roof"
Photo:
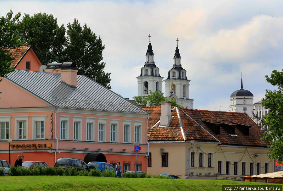
[[[200,149],[201,145],[201,149]],[[152,175],[158,174],[174,174],[181,178],[187,178],[188,174],[188,148],[191,143],[151,143],[149,142],[149,152],[152,154],[152,167],[148,167],[148,173]],[[160,148],[163,152],[169,154],[168,167],[162,167],[162,156]],[[200,143],[195,142],[190,150],[190,172],[194,172],[195,176],[190,178],[201,179],[222,179],[224,177],[237,177],[239,179],[243,175],[250,175],[250,163],[253,165],[252,175],[257,174],[257,163],[260,163],[259,174],[264,173],[264,164],[269,163],[267,172],[274,172],[273,160],[268,159],[269,149],[264,148],[247,148],[235,146],[219,146],[217,143]],[[191,152],[195,153],[194,166],[191,166]],[[200,153],[203,153],[203,167],[200,165]],[[212,153],[211,167],[208,167],[208,153]],[[248,154],[249,153],[249,154]],[[254,157],[256,154],[259,156]],[[221,173],[219,176],[214,176],[218,172],[218,161],[221,161]],[[229,172],[226,174],[226,161],[230,161],[228,165]],[[237,164],[237,175],[234,175],[234,162]],[[242,174],[242,163],[245,163],[244,174]],[[202,176],[196,176],[198,173]],[[210,172],[211,176],[206,176]]]

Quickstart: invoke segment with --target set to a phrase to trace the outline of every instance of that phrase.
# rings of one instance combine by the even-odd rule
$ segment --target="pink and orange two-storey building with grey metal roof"
[[[149,113],[86,76],[74,63],[48,64],[47,72],[15,70],[0,82],[0,156],[11,163],[60,157],[121,162],[123,171],[147,171]],[[88,159],[85,156],[88,155]]]

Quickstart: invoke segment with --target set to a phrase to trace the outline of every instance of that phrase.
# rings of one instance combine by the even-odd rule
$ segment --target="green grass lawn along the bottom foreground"
[[[278,185],[231,180],[185,180],[155,178],[109,178],[82,176],[19,176],[0,177],[3,190],[186,190],[219,191],[222,185]]]

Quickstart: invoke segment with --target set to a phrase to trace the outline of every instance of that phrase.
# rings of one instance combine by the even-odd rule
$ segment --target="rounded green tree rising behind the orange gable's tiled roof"
[[[66,29],[52,14],[25,14],[18,24],[23,45],[31,45],[42,64],[58,62],[66,42]]]

